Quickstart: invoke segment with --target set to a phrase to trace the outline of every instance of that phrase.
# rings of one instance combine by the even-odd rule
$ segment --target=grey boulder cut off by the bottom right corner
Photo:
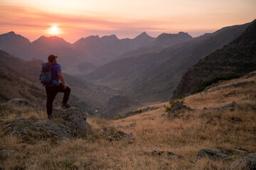
[[[256,169],[256,153],[248,154],[245,157],[240,157],[239,159],[232,162],[227,170],[252,170]]]

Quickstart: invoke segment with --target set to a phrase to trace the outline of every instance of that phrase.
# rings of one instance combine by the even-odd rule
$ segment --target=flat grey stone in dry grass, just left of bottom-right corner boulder
[[[209,159],[213,159],[213,160],[230,160],[231,158],[229,157],[230,153],[217,149],[215,147],[211,147],[210,149],[201,149],[198,152],[197,157],[198,158],[209,158]]]

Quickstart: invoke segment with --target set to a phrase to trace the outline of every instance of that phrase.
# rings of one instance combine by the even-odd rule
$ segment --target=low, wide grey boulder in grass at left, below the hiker
[[[4,135],[16,135],[22,137],[25,142],[47,140],[49,137],[58,139],[76,137],[75,130],[50,122],[50,120],[38,120],[33,123],[23,118],[16,118],[13,122],[3,125],[1,129],[4,131]]]

